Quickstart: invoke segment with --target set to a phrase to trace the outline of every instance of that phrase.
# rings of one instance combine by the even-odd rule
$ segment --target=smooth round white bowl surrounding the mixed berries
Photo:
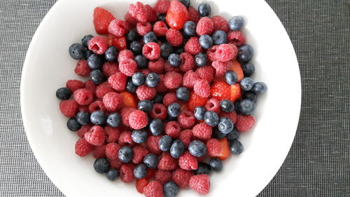
[[[21,81],[22,118],[31,149],[52,182],[69,197],[142,196],[134,184],[110,182],[94,172],[94,158],[74,154],[76,133],[66,128],[59,112],[57,88],[73,72],[69,57],[71,43],[85,34],[95,34],[92,11],[107,8],[123,18],[128,5],[122,0],[60,0],[38,27],[29,46]],[[155,0],[146,0],[154,4]],[[255,49],[255,81],[267,83],[268,91],[258,100],[253,130],[241,135],[244,152],[224,162],[223,172],[211,175],[207,196],[256,196],[274,177],[293,142],[300,113],[301,83],[297,58],[286,30],[263,0],[210,1],[212,15],[229,19],[242,15],[247,43]],[[192,0],[195,8],[199,0]],[[179,196],[199,196],[183,190]]]

